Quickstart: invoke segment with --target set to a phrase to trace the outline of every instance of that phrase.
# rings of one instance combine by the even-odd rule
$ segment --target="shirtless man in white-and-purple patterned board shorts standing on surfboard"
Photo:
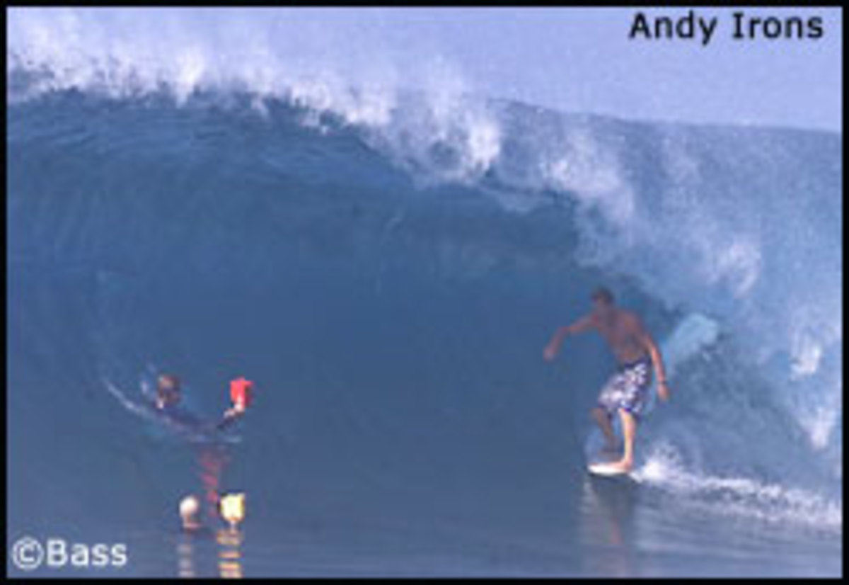
[[[617,307],[613,294],[604,287],[593,292],[592,301],[589,315],[557,329],[543,350],[543,357],[553,361],[567,335],[591,330],[599,332],[610,344],[619,366],[599,393],[592,416],[604,434],[604,452],[618,451],[611,418],[616,414],[620,417],[624,448],[621,458],[610,467],[627,472],[633,468],[634,437],[648,398],[652,369],[658,378],[657,395],[664,401],[669,400],[666,371],[660,349],[637,315]]]

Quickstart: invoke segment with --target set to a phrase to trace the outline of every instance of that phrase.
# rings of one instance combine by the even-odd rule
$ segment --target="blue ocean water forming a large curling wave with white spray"
[[[841,574],[841,135],[37,57],[7,72],[7,541],[129,562],[32,574]],[[584,469],[604,344],[542,359],[599,284],[671,373],[633,481]],[[187,436],[138,408],[158,372],[198,416],[238,376],[256,402]],[[184,535],[212,488],[245,522]]]

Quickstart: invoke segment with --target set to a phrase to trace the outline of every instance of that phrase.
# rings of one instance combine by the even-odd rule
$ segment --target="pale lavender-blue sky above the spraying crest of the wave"
[[[105,50],[145,26],[149,42],[160,33],[177,45],[181,38],[197,43],[205,37],[216,52],[261,38],[270,53],[297,62],[301,71],[334,62],[372,84],[391,79],[415,86],[427,77],[433,85],[436,67],[438,82],[562,111],[841,130],[840,9],[742,9],[781,20],[819,16],[824,23],[818,39],[749,41],[731,38],[735,9],[693,9],[695,16],[718,19],[707,45],[699,39],[629,39],[639,10],[74,9],[42,10],[37,18],[65,25],[74,18],[98,21],[94,36]],[[645,14],[681,18],[689,10]],[[20,43],[15,28],[23,20],[15,17],[30,15],[25,9],[12,13],[9,47]],[[81,30],[77,41],[87,43],[94,29]]]

